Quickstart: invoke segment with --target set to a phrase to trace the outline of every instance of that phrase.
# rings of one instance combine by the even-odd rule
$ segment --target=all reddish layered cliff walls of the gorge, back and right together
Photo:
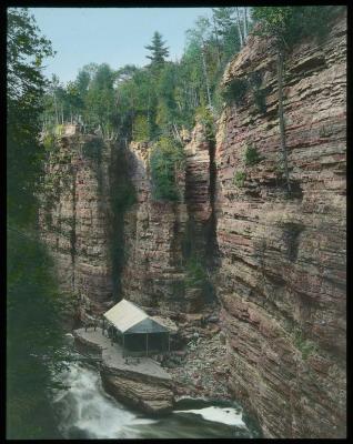
[[[150,143],[103,143],[95,159],[89,147],[98,137],[67,134],[48,165],[48,178],[69,179],[41,225],[67,287],[80,294],[80,319],[104,312],[114,293],[170,315],[191,337],[185,313],[221,305],[226,361],[221,346],[212,350],[224,366],[220,386],[229,381],[266,437],[345,436],[345,33],[341,16],[323,41],[303,41],[286,57],[290,194],[275,52],[258,37],[228,65],[223,82],[238,82],[242,94],[225,107],[215,147],[201,122],[185,142],[180,202],[153,199]],[[219,333],[211,330],[204,342]]]

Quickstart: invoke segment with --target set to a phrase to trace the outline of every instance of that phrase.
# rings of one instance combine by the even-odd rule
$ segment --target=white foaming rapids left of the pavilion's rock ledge
[[[68,390],[60,390],[53,400],[60,418],[60,431],[67,438],[72,433],[89,438],[139,437],[139,427],[155,421],[140,418],[109,396],[101,386],[97,371],[70,364],[60,375]]]

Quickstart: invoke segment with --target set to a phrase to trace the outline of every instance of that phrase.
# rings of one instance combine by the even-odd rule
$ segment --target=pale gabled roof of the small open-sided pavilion
[[[121,333],[128,333],[128,331],[129,333],[161,333],[169,331],[153,321],[143,310],[124,299],[108,310],[103,316]]]

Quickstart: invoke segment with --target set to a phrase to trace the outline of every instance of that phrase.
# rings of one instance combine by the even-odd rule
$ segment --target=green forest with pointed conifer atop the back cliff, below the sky
[[[100,127],[104,135],[179,140],[182,127],[194,125],[196,110],[209,108],[214,117],[220,112],[221,77],[250,29],[249,8],[214,8],[211,20],[200,17],[188,30],[180,60],[167,60],[169,50],[155,31],[144,47],[150,62],[142,68],[90,63],[67,85],[53,77],[42,122],[50,128],[74,119],[90,129]]]

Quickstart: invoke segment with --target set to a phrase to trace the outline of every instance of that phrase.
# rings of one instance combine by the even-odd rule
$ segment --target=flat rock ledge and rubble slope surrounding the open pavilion
[[[77,347],[101,359],[103,386],[118,401],[150,414],[172,410],[181,397],[230,400],[229,370],[224,364],[226,346],[218,325],[201,314],[180,323],[175,342],[184,343],[169,355],[122,357],[118,344],[111,344],[101,329],[73,332]]]

